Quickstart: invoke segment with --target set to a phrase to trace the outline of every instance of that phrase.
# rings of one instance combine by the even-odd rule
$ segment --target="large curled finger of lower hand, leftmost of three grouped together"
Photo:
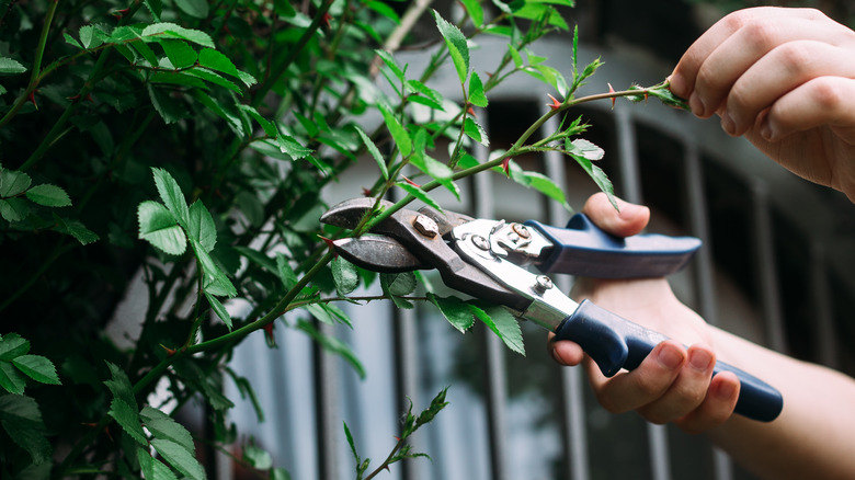
[[[635,370],[606,378],[593,364],[585,362],[589,379],[600,404],[612,413],[636,410],[658,400],[680,374],[686,350],[666,340],[657,345]]]

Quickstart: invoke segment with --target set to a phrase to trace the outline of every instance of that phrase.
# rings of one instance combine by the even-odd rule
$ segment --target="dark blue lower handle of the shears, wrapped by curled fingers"
[[[668,336],[632,323],[583,300],[556,329],[556,340],[571,340],[596,363],[606,377],[622,368],[631,370]],[[741,384],[734,412],[761,422],[775,420],[784,408],[780,392],[763,380],[717,362],[713,375],[732,372]]]

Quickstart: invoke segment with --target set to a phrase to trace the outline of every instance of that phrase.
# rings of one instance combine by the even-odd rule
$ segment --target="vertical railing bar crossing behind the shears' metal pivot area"
[[[489,133],[487,115],[479,112],[482,127]],[[489,151],[487,147],[478,144],[476,147],[476,158],[479,161],[487,161]],[[475,215],[477,217],[493,217],[493,186],[491,175],[475,175]],[[487,354],[487,414],[490,431],[490,465],[492,475],[490,478],[495,480],[506,480],[510,478],[508,470],[508,433],[506,433],[506,368],[504,358],[504,346],[499,338],[487,332],[485,335],[485,350]]]

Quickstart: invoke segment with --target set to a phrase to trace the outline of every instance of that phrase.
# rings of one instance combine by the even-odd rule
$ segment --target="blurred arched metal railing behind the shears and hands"
[[[538,53],[554,59],[567,55],[567,46],[561,44],[538,48]],[[482,45],[479,52],[479,56],[485,55],[490,55],[489,45]],[[585,57],[584,52],[580,57]],[[662,78],[662,70],[651,71],[649,66],[620,58],[617,53],[614,57],[606,58],[606,67],[597,77],[615,84],[622,81],[652,84]],[[418,65],[418,58],[407,61]],[[539,92],[542,88],[535,85],[535,89]],[[453,96],[451,87],[446,91]],[[545,103],[545,92],[532,92],[532,83],[524,79],[495,92],[491,106],[478,114],[485,128],[491,132],[490,123],[514,122],[490,115],[491,108],[503,102],[527,105],[524,108],[539,115],[544,106],[538,105]],[[618,104],[614,111],[609,106],[595,105],[588,113],[607,119],[606,125],[592,128],[603,128],[600,135],[612,139],[609,145],[602,146],[613,159],[608,163],[609,175],[617,181],[617,193],[624,198],[645,202],[646,164],[640,156],[639,125],[646,127],[645,135],[658,136],[652,141],[675,144],[682,152],[681,158],[669,159],[679,164],[682,185],[673,188],[680,193],[669,196],[682,203],[682,218],[657,218],[657,205],[652,205],[658,221],[656,229],[693,235],[706,245],[691,271],[680,277],[677,295],[707,321],[737,329],[741,334],[760,331],[762,335],[755,334],[752,340],[785,351],[786,316],[782,310],[775,255],[779,238],[774,231],[773,210],[787,202],[777,195],[782,190],[789,201],[798,198],[799,205],[791,206],[795,209],[816,212],[822,205],[821,198],[817,199],[811,186],[771,170],[772,162],[762,159],[743,141],[726,137],[717,125],[652,104]],[[545,128],[555,127],[549,124]],[[483,159],[488,152],[478,147],[476,153]],[[581,206],[584,197],[593,192],[565,158],[546,155],[533,161],[566,188],[573,205]],[[711,220],[710,212],[716,206],[709,205],[708,194],[715,193],[710,188],[721,185],[710,185],[705,173],[710,165],[725,169],[750,187],[749,192],[739,193],[749,199],[745,215],[751,225],[750,232],[743,232],[741,248],[755,260],[751,268],[755,298],[740,298],[732,293],[738,286],[721,281],[713,232],[728,226]],[[488,218],[534,218],[562,225],[569,217],[560,206],[546,204],[537,194],[499,176],[476,175],[464,191],[460,204],[453,198],[441,197],[441,201],[447,201],[449,208]],[[338,192],[331,192],[330,202],[351,193],[339,197]],[[717,193],[719,197],[728,194]],[[807,273],[810,288],[805,296],[817,312],[813,351],[821,356],[811,359],[837,365],[841,352],[834,331],[835,315],[840,313],[834,311],[829,283],[835,275],[843,292],[855,292],[851,288],[855,284],[845,273],[833,272],[825,262],[829,255],[837,259],[842,255],[829,251],[834,245],[824,241],[824,232],[832,228],[828,224],[833,220],[819,214],[807,220],[799,219],[798,212],[788,210],[788,218],[805,220],[796,224],[810,242],[806,252],[810,255],[811,267]],[[843,262],[851,259],[844,255]],[[571,279],[558,278],[557,283],[568,289]],[[719,290],[721,285],[727,292]],[[760,315],[736,318],[733,311],[740,302]],[[727,316],[721,315],[720,306],[726,307]],[[240,424],[240,431],[252,433],[259,444],[270,449],[276,464],[288,468],[295,479],[353,478],[353,459],[344,438],[343,422],[353,432],[361,455],[380,460],[395,443],[399,415],[409,402],[419,410],[448,385],[451,405],[413,441],[415,449],[428,453],[433,461],[397,465],[386,478],[595,480],[628,473],[629,478],[654,480],[751,478],[706,441],[684,436],[674,428],[649,425],[634,413],[606,413],[593,400],[581,369],[560,368],[547,358],[543,346],[545,335],[537,330],[524,329],[528,351],[528,357],[524,358],[509,353],[485,329],[460,335],[428,309],[396,310],[389,302],[371,302],[351,308],[350,313],[355,323],[353,330],[323,324],[320,328],[351,345],[365,365],[365,380],[360,380],[341,358],[323,352],[295,329],[275,329],[278,350],[266,348],[260,334],[248,339],[232,361],[236,369],[253,380],[265,405],[266,422],[256,425],[247,402],[238,402],[231,418]],[[229,395],[233,398],[237,392]],[[675,450],[680,454],[675,455]],[[229,478],[228,472],[224,472],[224,478]]]

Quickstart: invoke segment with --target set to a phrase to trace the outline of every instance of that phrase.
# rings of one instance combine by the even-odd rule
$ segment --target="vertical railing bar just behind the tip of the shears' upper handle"
[[[704,192],[704,173],[700,165],[700,151],[697,144],[683,145],[685,163],[686,194],[688,196],[688,216],[692,235],[704,242],[704,248],[695,254],[695,282],[698,292],[698,312],[713,324],[718,324],[716,309],[716,284],[713,271],[713,247],[709,235],[709,217]],[[713,447],[713,465],[716,480],[732,480],[733,464],[720,448]]]

